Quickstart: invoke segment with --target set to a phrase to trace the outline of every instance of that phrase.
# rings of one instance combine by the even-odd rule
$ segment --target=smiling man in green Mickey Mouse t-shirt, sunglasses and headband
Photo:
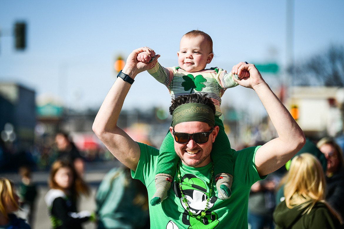
[[[148,47],[134,50],[111,87],[93,124],[93,130],[110,152],[132,170],[133,178],[147,187],[149,199],[155,192],[155,168],[159,150],[133,141],[117,126],[118,116],[133,78],[149,69],[151,63],[137,61],[137,55]],[[246,71],[244,71],[246,70]],[[174,148],[180,162],[173,177],[169,197],[161,204],[149,206],[151,228],[248,228],[247,207],[250,187],[284,165],[305,142],[304,134],[288,110],[265,83],[253,64],[240,62],[232,69],[239,75],[239,85],[256,91],[266,108],[278,138],[262,146],[232,151],[234,179],[232,197],[216,196],[212,144],[219,127],[214,126],[212,104],[205,97],[193,95],[172,101]]]

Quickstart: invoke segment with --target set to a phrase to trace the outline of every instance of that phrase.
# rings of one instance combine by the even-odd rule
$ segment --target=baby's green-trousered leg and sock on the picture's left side
[[[179,157],[174,151],[173,137],[168,132],[160,147],[157,175],[155,175],[155,188],[157,191],[150,200],[152,206],[160,204],[168,197],[178,161]]]

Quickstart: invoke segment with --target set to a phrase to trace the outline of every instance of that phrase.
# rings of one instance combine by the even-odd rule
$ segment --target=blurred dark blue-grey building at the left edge
[[[34,90],[16,83],[0,83],[1,139],[17,151],[33,145],[35,107]]]

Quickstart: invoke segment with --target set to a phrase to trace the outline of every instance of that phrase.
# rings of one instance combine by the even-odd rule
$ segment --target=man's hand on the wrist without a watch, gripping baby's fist
[[[239,85],[253,88],[261,83],[265,83],[264,79],[260,75],[258,69],[254,64],[246,64],[245,62],[240,62],[234,65],[232,68],[232,73],[237,74],[239,79],[234,79]]]

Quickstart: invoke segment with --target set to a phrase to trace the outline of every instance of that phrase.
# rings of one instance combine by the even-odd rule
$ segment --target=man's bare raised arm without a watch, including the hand
[[[248,70],[249,76],[243,70]],[[233,67],[232,73],[239,76],[242,74],[241,80],[235,81],[256,91],[278,134],[278,138],[265,143],[256,152],[256,168],[259,175],[264,176],[287,163],[306,140],[299,125],[272,92],[255,65],[241,62]]]

